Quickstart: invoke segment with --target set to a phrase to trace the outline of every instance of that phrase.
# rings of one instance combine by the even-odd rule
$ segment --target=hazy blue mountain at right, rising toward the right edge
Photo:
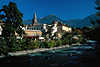
[[[84,19],[72,19],[72,20],[68,20],[65,22],[65,24],[68,24],[71,27],[78,27],[78,28],[82,28],[84,26],[92,26],[91,24],[91,20],[94,21],[96,23],[96,15],[92,14],[90,16],[85,17]]]

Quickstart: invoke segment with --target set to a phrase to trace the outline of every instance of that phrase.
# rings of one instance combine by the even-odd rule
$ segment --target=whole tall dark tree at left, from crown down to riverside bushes
[[[6,40],[7,46],[12,48],[13,45],[16,45],[16,35],[15,32],[22,36],[24,31],[22,30],[23,23],[22,17],[23,14],[19,11],[16,6],[16,3],[10,2],[8,5],[4,5],[0,10],[0,20],[3,21],[3,31],[2,37]]]

